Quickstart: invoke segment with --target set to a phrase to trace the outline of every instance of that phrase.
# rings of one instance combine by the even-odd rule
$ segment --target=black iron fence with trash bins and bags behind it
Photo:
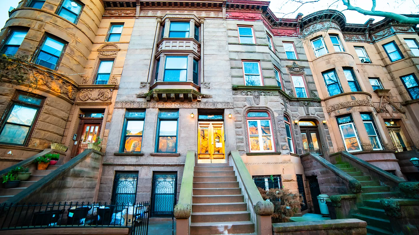
[[[0,230],[49,227],[127,227],[131,235],[147,235],[150,202],[135,205],[58,202],[1,204]]]

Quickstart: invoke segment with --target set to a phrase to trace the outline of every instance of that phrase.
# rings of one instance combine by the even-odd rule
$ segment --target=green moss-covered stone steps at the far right
[[[380,204],[380,199],[388,197],[397,197],[396,192],[391,192],[390,187],[381,186],[380,181],[372,180],[369,175],[358,171],[351,167],[348,163],[340,162],[335,164],[336,167],[343,170],[350,176],[354,177],[361,183],[363,207],[358,207],[359,213],[352,214],[353,218],[364,220],[367,222],[367,232],[374,235],[391,235],[390,220],[385,215],[384,209]]]

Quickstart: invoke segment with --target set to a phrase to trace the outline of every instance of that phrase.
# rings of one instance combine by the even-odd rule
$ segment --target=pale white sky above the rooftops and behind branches
[[[8,11],[10,7],[16,8],[21,0],[0,0],[0,25],[3,28],[6,20],[8,19]],[[325,10],[327,8],[335,10],[344,10],[346,7],[341,3],[341,0],[319,0],[316,3],[306,3],[301,5],[299,2],[307,2],[313,0],[271,0],[269,8],[278,18],[285,15],[286,18],[295,18],[297,13],[308,15],[318,10]],[[336,2],[335,2],[336,1]],[[335,3],[334,3],[335,2]],[[334,3],[329,7],[331,3]],[[370,10],[372,6],[371,0],[351,0],[352,5],[362,7],[363,9]],[[377,0],[375,10],[390,11],[401,14],[417,14],[419,13],[419,0]],[[295,12],[294,12],[295,11]],[[294,13],[292,13],[294,12]],[[362,15],[351,10],[344,10],[343,14],[346,17],[347,23],[363,24],[369,18],[374,18],[375,22],[383,19],[378,16]]]

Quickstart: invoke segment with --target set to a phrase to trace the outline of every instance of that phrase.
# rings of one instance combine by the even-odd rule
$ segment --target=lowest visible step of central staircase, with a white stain
[[[193,235],[252,233],[255,225],[251,221],[191,223],[190,231]]]

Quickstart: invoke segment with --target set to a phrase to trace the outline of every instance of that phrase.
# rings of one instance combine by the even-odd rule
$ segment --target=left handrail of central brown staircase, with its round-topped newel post
[[[176,233],[190,234],[191,212],[192,212],[192,186],[194,181],[195,151],[188,150],[184,172],[182,175],[181,191],[178,204],[173,208],[173,215],[176,218]]]

